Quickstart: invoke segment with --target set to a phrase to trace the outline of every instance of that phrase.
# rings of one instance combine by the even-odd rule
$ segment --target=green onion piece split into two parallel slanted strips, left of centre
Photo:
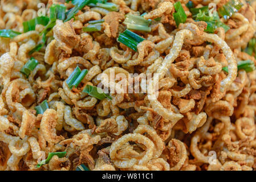
[[[72,89],[74,86],[75,88],[77,88],[87,73],[87,69],[83,69],[83,71],[81,71],[79,67],[76,67],[75,70],[71,73],[71,75],[67,78],[66,82],[68,87],[70,89]]]

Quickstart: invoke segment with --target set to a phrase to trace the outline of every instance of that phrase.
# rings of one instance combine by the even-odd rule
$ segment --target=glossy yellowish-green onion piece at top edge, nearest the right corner
[[[229,19],[234,13],[239,11],[243,4],[239,0],[230,0],[218,9],[218,13],[225,19]]]

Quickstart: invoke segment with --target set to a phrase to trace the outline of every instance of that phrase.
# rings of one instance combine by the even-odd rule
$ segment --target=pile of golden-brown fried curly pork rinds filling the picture
[[[46,46],[32,55],[44,26],[0,38],[0,170],[67,171],[81,164],[103,171],[256,169],[256,71],[237,70],[238,61],[256,63],[242,52],[256,36],[256,1],[241,1],[241,10],[224,22],[230,30],[220,27],[213,34],[204,31],[205,22],[192,19],[186,0],[180,2],[188,19],[178,28],[172,16],[177,1],[112,2],[119,11],[86,6],[75,19],[57,20]],[[227,1],[192,2],[221,7]],[[57,0],[1,0],[0,29],[23,32],[22,23],[37,16],[38,3],[47,11],[52,4],[72,7]],[[151,32],[136,32],[146,40],[135,52],[117,38],[126,29],[125,15],[137,11],[161,19],[152,22]],[[99,19],[105,20],[102,31],[83,32],[88,21]],[[26,78],[19,71],[30,57],[39,64]],[[70,90],[66,80],[77,65],[88,73]],[[116,88],[112,100],[82,92],[111,70],[157,73],[159,97],[149,100],[152,85],[148,93]],[[44,100],[50,109],[36,114]],[[55,155],[36,167],[42,156],[63,151],[64,158]]]

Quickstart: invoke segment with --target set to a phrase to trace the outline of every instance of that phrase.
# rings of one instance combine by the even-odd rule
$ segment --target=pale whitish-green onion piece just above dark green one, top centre
[[[130,30],[151,32],[151,27],[149,27],[151,20],[147,20],[142,16],[127,14],[124,24],[126,24],[127,28]]]

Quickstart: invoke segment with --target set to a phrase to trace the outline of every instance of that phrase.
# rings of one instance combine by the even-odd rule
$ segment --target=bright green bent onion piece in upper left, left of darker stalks
[[[42,24],[46,26],[49,22],[49,18],[47,16],[39,16],[34,19],[31,19],[27,22],[23,22],[23,30],[24,32],[35,30],[36,24]]]

